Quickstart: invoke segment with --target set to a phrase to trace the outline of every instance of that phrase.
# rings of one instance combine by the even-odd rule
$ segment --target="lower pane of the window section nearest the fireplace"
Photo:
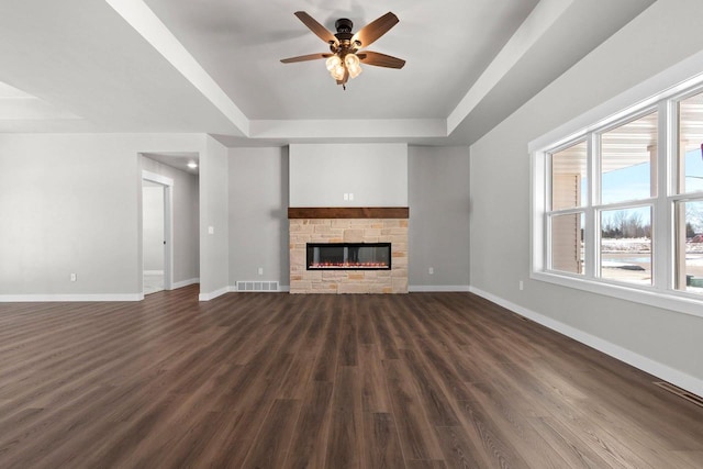
[[[583,213],[551,216],[551,268],[583,273]]]

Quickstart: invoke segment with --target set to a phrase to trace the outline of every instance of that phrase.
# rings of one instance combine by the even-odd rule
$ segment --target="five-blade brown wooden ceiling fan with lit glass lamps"
[[[378,52],[360,51],[361,47],[368,47],[398,24],[398,16],[390,11],[354,34],[352,33],[354,23],[349,19],[338,19],[334,23],[337,33],[332,34],[332,32],[304,11],[297,11],[294,14],[310,31],[330,45],[331,53],[308,54],[283,58],[281,59],[283,64],[326,58],[330,75],[332,75],[332,78],[337,81],[337,85],[342,85],[342,88],[345,90],[349,77],[356,78],[361,72],[360,64],[387,68],[403,68],[405,65],[405,60],[398,57]]]

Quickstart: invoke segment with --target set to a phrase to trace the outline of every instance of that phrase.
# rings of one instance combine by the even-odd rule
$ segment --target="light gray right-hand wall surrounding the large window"
[[[470,149],[471,286],[698,379],[703,319],[529,280],[527,144],[703,49],[701,18],[700,0],[657,1]]]

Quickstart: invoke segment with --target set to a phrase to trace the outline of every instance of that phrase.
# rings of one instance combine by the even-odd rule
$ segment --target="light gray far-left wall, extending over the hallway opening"
[[[0,299],[138,299],[138,153],[202,145],[190,134],[1,134]]]

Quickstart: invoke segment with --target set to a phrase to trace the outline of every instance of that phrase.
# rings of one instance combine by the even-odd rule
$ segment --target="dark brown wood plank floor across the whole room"
[[[0,304],[0,467],[703,467],[703,407],[468,293]]]

